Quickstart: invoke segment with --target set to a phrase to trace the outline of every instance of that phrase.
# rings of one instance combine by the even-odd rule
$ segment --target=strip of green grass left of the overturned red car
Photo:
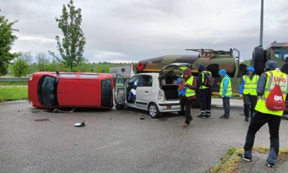
[[[27,86],[0,87],[0,102],[7,102],[13,100],[28,100]]]

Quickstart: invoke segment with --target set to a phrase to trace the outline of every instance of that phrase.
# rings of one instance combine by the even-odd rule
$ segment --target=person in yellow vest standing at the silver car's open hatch
[[[185,95],[180,96],[180,115],[185,115],[186,119],[182,128],[188,128],[189,124],[194,119],[191,116],[191,106],[193,100],[196,99],[195,90],[197,83],[195,78],[192,76],[191,69],[187,68],[183,71],[182,84],[186,87]]]

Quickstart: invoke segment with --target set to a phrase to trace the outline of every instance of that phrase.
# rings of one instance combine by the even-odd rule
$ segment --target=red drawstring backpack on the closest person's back
[[[266,100],[266,107],[271,111],[285,110],[285,100],[283,98],[279,83],[280,82],[276,82]]]

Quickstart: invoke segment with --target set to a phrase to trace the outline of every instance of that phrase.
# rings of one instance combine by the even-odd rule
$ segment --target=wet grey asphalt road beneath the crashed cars
[[[76,109],[53,113],[28,102],[0,104],[0,172],[207,172],[230,147],[243,147],[248,122],[242,100],[231,100],[230,119],[213,99],[210,119],[188,129],[184,117],[152,119],[145,111]],[[75,127],[85,121],[86,126]],[[288,121],[280,126],[280,148],[288,148]],[[269,146],[268,126],[255,146]]]

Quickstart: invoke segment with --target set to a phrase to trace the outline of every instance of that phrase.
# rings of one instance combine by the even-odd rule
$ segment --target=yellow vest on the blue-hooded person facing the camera
[[[257,95],[256,87],[257,87],[258,80],[259,80],[258,75],[254,75],[252,80],[247,75],[243,76],[243,81],[244,81],[243,94],[250,93],[250,95]]]

